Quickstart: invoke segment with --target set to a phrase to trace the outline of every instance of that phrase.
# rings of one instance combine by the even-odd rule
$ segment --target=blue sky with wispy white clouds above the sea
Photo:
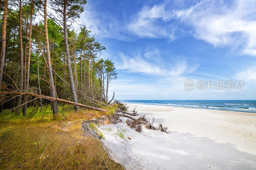
[[[256,1],[88,0],[79,20],[116,65],[118,100],[255,100]],[[242,90],[185,90],[191,79]]]

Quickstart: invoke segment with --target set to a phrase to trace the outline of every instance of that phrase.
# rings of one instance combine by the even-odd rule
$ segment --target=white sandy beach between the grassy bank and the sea
[[[135,132],[125,123],[123,140],[116,125],[100,129],[111,157],[128,169],[256,169],[256,114],[170,106],[127,104],[148,120],[154,117],[172,131],[143,128]],[[124,118],[124,121],[126,118]],[[111,128],[107,132],[105,128]],[[211,168],[210,168],[211,167]]]

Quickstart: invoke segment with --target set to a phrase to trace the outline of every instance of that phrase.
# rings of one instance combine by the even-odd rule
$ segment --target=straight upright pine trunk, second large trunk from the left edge
[[[19,38],[20,38],[20,85],[19,89],[23,90],[23,71],[24,71],[24,63],[23,63],[23,44],[22,44],[22,7],[21,7],[21,0],[20,0],[20,11],[19,11]],[[22,95],[17,97],[17,106],[20,106],[22,101]],[[17,107],[15,109],[15,115],[20,115],[21,107]]]

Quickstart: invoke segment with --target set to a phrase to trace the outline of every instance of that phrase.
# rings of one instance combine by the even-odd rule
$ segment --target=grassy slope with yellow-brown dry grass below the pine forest
[[[108,158],[98,140],[82,136],[81,119],[103,113],[74,113],[68,111],[73,106],[66,107],[64,114],[60,108],[60,115],[68,120],[53,119],[50,107],[29,119],[12,112],[0,114],[0,169],[123,169]],[[28,115],[33,110],[29,107]]]

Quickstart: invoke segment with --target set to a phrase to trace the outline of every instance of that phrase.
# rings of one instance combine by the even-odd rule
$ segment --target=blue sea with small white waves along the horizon
[[[120,100],[126,103],[256,113],[256,100]]]

